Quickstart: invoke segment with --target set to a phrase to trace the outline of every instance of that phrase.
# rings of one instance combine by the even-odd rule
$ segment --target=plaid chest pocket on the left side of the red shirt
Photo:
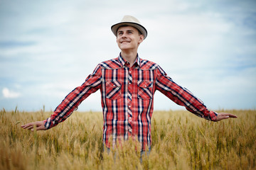
[[[106,82],[106,97],[112,100],[121,98],[121,87],[120,81],[107,81]]]

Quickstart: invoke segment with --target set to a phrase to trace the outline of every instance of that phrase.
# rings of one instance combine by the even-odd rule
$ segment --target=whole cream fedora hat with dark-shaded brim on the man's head
[[[117,30],[120,26],[132,26],[134,28],[137,28],[142,33],[142,35],[144,35],[144,39],[146,38],[146,35],[147,35],[146,28],[144,28],[144,26],[140,24],[139,20],[137,20],[137,18],[133,16],[124,16],[124,18],[122,18],[122,21],[120,23],[116,23],[111,27],[111,30],[116,37],[117,37]]]

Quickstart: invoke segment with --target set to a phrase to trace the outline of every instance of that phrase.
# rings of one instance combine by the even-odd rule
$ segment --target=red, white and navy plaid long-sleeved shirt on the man
[[[85,82],[65,97],[53,115],[45,120],[46,129],[63,122],[87,96],[98,89],[101,91],[104,119],[103,143],[107,147],[128,137],[137,138],[142,150],[151,146],[151,116],[156,90],[201,118],[215,120],[217,115],[208,111],[190,91],[167,77],[158,64],[137,56],[129,67],[129,63],[119,55],[98,64]]]

